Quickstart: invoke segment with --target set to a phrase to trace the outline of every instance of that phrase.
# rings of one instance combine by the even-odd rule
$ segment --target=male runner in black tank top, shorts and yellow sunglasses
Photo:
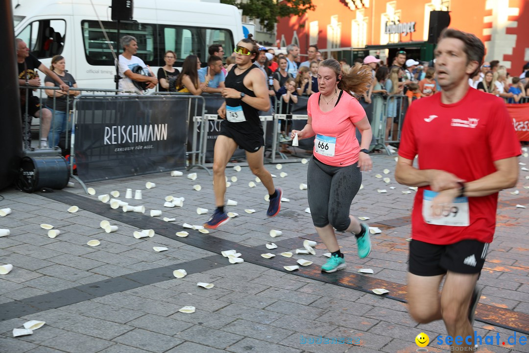
[[[258,47],[251,37],[241,40],[235,47],[236,64],[229,70],[224,82],[226,88],[222,90],[222,95],[226,101],[218,109],[218,115],[225,120],[221,122],[213,157],[216,210],[204,224],[206,228],[215,229],[230,220],[224,210],[224,171],[237,147],[246,151],[252,173],[268,190],[270,205],[267,215],[273,217],[281,208],[282,191],[275,188],[270,172],[263,165],[265,140],[258,111],[269,110],[270,98],[262,71],[253,65],[257,55]]]

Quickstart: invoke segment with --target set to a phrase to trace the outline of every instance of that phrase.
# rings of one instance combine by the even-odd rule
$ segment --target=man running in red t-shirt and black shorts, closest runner
[[[450,336],[463,338],[459,347],[472,348],[481,293],[476,283],[494,236],[498,192],[516,185],[521,154],[503,100],[468,84],[484,55],[475,35],[442,32],[435,49],[441,93],[408,108],[395,170],[397,182],[419,187],[409,246],[409,312],[419,323],[442,319]]]

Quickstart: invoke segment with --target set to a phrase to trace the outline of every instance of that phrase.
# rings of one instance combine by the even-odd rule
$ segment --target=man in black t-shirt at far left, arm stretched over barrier
[[[40,82],[39,74],[37,69],[41,70],[44,74],[52,77],[56,82],[60,83],[60,88],[64,92],[68,92],[70,87],[62,82],[61,78],[45,67],[42,62],[35,58],[31,53],[26,43],[20,38],[16,39],[16,60],[19,65],[19,85],[21,86],[43,86]],[[26,111],[26,105],[28,107],[28,115],[34,117],[40,117],[40,148],[48,147],[48,133],[50,132],[51,124],[51,112],[40,106],[39,98],[33,95],[32,89],[21,89],[21,109],[22,114]],[[24,119],[24,117],[22,117]],[[27,124],[31,124],[31,118]]]

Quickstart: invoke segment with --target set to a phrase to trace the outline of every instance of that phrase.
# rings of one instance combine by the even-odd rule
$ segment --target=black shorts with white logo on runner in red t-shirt
[[[417,276],[480,273],[487,257],[488,243],[462,240],[450,245],[435,245],[412,240],[409,243],[409,273]]]

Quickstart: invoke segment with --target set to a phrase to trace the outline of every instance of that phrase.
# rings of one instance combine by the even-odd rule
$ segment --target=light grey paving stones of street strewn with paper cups
[[[524,159],[527,158],[521,157]],[[394,182],[394,157],[375,155],[373,162],[373,171],[363,174],[363,189],[355,198],[351,213],[368,216],[373,223],[406,218],[414,192],[403,194],[408,188]],[[271,219],[266,217],[266,189],[260,183],[254,188],[248,186],[254,181],[249,168],[243,166],[239,173],[227,168],[228,178],[238,178],[226,193],[226,198],[238,201],[238,205],[227,208],[239,216],[207,237],[239,243],[238,250],[243,252],[245,247],[262,247],[267,242],[315,233],[311,216],[305,212],[307,192],[299,188],[300,183],[306,182],[307,165],[285,162],[282,166],[281,170],[275,165],[267,168],[277,175],[274,181],[290,201],[283,202],[279,215]],[[390,170],[388,175],[382,173],[385,168]],[[288,175],[281,178],[281,171]],[[187,179],[184,172],[182,177],[159,173],[91,183],[88,186],[96,189],[95,196],[85,195],[78,183],[65,191],[97,200],[97,195],[117,190],[121,193],[117,198],[144,205],[147,212],[162,210],[161,217],[176,218],[178,224],[202,224],[208,215],[198,215],[196,208],[205,207],[210,214],[213,211],[212,177],[205,170],[193,172],[198,174],[196,180]],[[391,182],[386,184],[376,174],[390,177]],[[480,278],[485,285],[480,303],[527,314],[529,218],[526,209],[514,206],[529,203],[529,193],[523,188],[529,185],[526,175],[529,173],[521,172],[516,186],[518,195],[510,194],[513,190],[500,192],[495,241]],[[146,182],[156,183],[156,188],[145,188]],[[201,191],[193,189],[196,184],[202,186]],[[141,189],[143,200],[126,200],[126,188]],[[379,193],[378,189],[386,189],[387,193]],[[439,334],[446,335],[443,323],[415,323],[404,303],[265,266],[231,265],[216,252],[159,234],[136,239],[133,232],[138,229],[125,222],[110,219],[118,230],[106,233],[99,228],[104,219],[101,215],[82,209],[68,213],[71,205],[39,194],[6,189],[1,195],[4,199],[0,208],[10,207],[13,212],[0,218],[0,228],[11,230],[10,236],[0,238],[0,263],[13,264],[14,268],[11,273],[0,275],[0,305],[15,310],[25,303],[40,309],[7,320],[8,313],[0,310],[0,353],[404,353],[416,351],[414,339],[420,332],[433,341],[427,347],[429,351],[448,350],[434,341]],[[163,207],[167,195],[185,197],[184,207]],[[248,214],[245,209],[257,212]],[[110,218],[113,212],[122,211],[111,210],[109,205]],[[61,233],[50,239],[47,231],[40,228],[41,223],[52,224]],[[281,230],[282,236],[271,238],[271,229]],[[405,284],[406,238],[410,229],[409,222],[402,222],[372,236],[373,250],[363,260],[356,255],[354,238],[341,239],[349,270],[369,267],[375,272],[370,276]],[[100,240],[101,245],[87,246],[91,239]],[[155,246],[169,250],[155,252]],[[323,244],[318,243],[316,256],[303,258],[314,261],[311,266],[320,266],[325,252]],[[295,255],[293,263],[301,257]],[[211,267],[203,270],[200,263]],[[196,265],[196,271],[180,279],[170,276],[171,270],[185,264]],[[169,276],[144,278],[151,274],[150,270],[154,273],[160,268]],[[108,280],[114,280],[107,282],[112,283],[106,287],[109,292],[98,292]],[[215,287],[200,288],[197,282],[213,283]],[[80,286],[84,286],[83,292],[74,289]],[[74,293],[78,297],[72,297]],[[43,302],[43,297],[48,300]],[[53,304],[57,302],[62,304]],[[195,306],[196,312],[179,312],[185,305]],[[13,328],[22,328],[29,320],[46,324],[31,336],[13,338]],[[481,346],[484,352],[529,352],[527,345],[507,344],[508,337],[515,334],[512,330],[479,321],[475,322],[475,330],[481,337],[494,338],[494,345]],[[349,337],[358,344],[302,343],[320,336]],[[501,344],[504,341],[506,345]]]

